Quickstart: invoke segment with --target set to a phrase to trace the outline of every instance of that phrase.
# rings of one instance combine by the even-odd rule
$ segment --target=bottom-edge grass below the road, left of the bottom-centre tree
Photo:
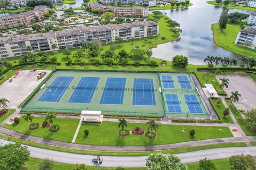
[[[19,170],[37,170],[38,165],[42,162],[42,159],[37,159],[37,158],[29,158],[28,162],[21,167]],[[64,163],[58,163],[54,162],[54,168],[53,170],[72,170],[72,168],[75,165],[72,164],[64,164]],[[87,170],[95,170],[95,166],[86,166]],[[99,170],[115,170],[116,167],[100,167],[98,168]],[[126,168],[127,170],[145,170],[146,168]]]

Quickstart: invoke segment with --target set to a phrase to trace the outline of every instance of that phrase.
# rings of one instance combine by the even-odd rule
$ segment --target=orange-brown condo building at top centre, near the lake
[[[106,10],[111,10],[115,16],[134,16],[137,18],[148,17],[148,7],[124,7],[124,6],[108,6],[102,5],[97,2],[88,3],[92,10],[99,10],[100,12],[105,12]]]

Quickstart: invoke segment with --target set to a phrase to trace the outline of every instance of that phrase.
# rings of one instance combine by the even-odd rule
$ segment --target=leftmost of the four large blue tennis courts
[[[74,77],[56,77],[38,101],[59,102]]]

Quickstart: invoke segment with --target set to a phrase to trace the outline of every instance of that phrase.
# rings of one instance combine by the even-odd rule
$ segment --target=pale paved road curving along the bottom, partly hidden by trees
[[[0,139],[0,145],[3,145],[6,140]],[[10,143],[10,142],[7,142]],[[35,158],[43,159],[45,157],[52,158],[53,160],[61,163],[68,164],[86,164],[93,166],[92,163],[92,155],[81,155],[81,154],[71,154],[67,152],[59,152],[53,150],[46,150],[36,147],[28,146],[28,150],[30,151],[30,156]],[[185,163],[193,163],[198,162],[199,159],[203,159],[205,157],[209,159],[220,159],[220,158],[228,158],[232,155],[236,154],[251,154],[252,156],[256,156],[256,147],[236,147],[236,148],[218,148],[218,149],[208,149],[208,150],[200,150],[193,152],[186,152],[182,154],[177,154],[178,157],[181,158],[182,162]],[[103,163],[101,166],[106,167],[145,167],[146,156],[102,156]]]

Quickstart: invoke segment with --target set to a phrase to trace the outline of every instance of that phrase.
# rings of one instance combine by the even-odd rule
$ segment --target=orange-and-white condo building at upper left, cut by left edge
[[[43,15],[49,11],[45,5],[35,6],[33,11],[23,12],[21,14],[14,14],[9,16],[2,16],[0,18],[0,30],[7,28],[20,27],[22,25],[29,25],[31,21],[36,18],[41,20]]]

